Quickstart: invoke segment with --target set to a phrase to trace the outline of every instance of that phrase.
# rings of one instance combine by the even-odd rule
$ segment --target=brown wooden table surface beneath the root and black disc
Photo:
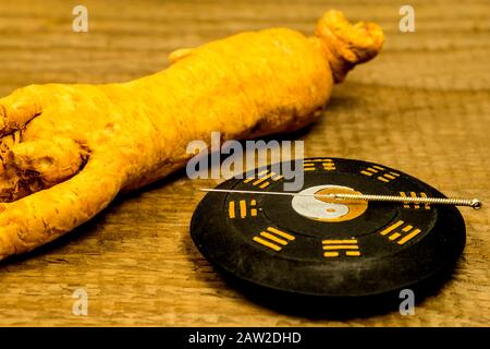
[[[73,1],[0,2],[0,95],[32,83],[115,82],[167,67],[167,55],[244,29],[311,33],[330,8],[382,25],[382,53],[335,87],[298,137],[307,156],[372,160],[446,195],[490,203],[490,2],[411,1],[416,32],[399,31],[400,1],[85,0],[89,32],[72,31]],[[348,320],[285,315],[230,287],[193,245],[189,220],[217,181],[173,176],[119,198],[89,224],[0,264],[0,325],[488,326],[490,209],[462,208],[467,246],[453,278],[416,306]],[[47,203],[49,204],[49,203]],[[88,293],[88,315],[72,293]]]

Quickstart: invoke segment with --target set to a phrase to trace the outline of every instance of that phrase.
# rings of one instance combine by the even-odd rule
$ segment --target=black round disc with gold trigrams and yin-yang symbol
[[[399,170],[360,160],[309,158],[301,193],[445,197]],[[272,167],[219,189],[284,191]],[[454,206],[332,203],[316,196],[208,193],[191,224],[213,265],[270,290],[303,296],[381,294],[429,279],[454,264],[465,225]]]

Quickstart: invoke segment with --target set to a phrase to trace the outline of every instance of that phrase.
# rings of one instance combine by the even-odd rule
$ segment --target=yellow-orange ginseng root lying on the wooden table
[[[0,260],[35,249],[122,191],[182,167],[193,140],[290,132],[382,46],[376,24],[327,12],[315,35],[237,34],[171,53],[162,72],[107,85],[30,85],[0,99]]]

